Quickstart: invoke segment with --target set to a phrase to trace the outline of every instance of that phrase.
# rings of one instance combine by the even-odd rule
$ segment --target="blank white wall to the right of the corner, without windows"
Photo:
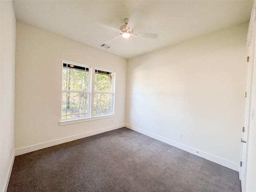
[[[247,30],[242,24],[128,60],[127,126],[238,170]]]

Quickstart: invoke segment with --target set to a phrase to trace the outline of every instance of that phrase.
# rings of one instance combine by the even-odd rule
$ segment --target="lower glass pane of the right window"
[[[94,94],[94,115],[112,114],[112,94]]]

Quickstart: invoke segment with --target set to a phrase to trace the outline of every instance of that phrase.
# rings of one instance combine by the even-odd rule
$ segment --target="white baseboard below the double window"
[[[94,130],[94,131],[90,131],[90,132],[85,132],[85,133],[78,134],[78,135],[73,135],[73,136],[69,136],[69,137],[65,137],[65,138],[60,138],[60,139],[57,139],[57,140],[52,140],[52,141],[48,141],[48,142],[44,142],[44,143],[40,143],[40,144],[36,144],[36,145],[31,145],[31,146],[24,147],[24,148],[19,148],[19,149],[15,150],[15,156],[22,155],[22,154],[25,154],[25,153],[29,153],[29,152],[32,152],[32,151],[36,151],[36,150],[40,150],[40,149],[43,149],[43,148],[51,147],[51,146],[54,146],[54,145],[74,141],[74,140],[77,140],[77,139],[89,137],[89,136],[100,134],[100,133],[103,133],[103,132],[115,130],[115,129],[118,129],[118,128],[122,128],[124,126],[125,126],[125,124],[119,124],[119,125],[116,125],[116,126],[106,127],[106,128],[102,128],[102,129],[98,129],[98,130]]]

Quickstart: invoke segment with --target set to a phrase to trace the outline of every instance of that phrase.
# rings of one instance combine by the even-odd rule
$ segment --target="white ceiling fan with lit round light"
[[[100,23],[98,23],[98,24],[100,24]],[[143,36],[143,37],[146,37],[146,38],[156,39],[157,36],[158,36],[158,34],[153,34],[153,33],[140,33],[140,32],[134,33],[133,32],[134,22],[132,22],[128,18],[124,19],[124,25],[120,26],[119,29],[116,29],[114,27],[111,27],[111,26],[108,26],[108,25],[104,25],[104,24],[100,24],[100,25],[102,27],[104,27],[104,28],[107,28],[107,29],[110,29],[110,30],[114,30],[115,32],[120,33],[120,36],[117,36],[117,37],[115,37],[115,38],[113,38],[111,40],[108,40],[107,42],[116,40],[116,39],[118,39],[120,37],[129,38],[130,36]],[[107,43],[107,42],[105,42],[105,43]]]

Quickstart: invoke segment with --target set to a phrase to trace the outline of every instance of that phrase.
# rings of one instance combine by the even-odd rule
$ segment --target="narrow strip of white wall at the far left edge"
[[[0,1],[0,191],[6,190],[14,160],[16,19],[12,1]]]

